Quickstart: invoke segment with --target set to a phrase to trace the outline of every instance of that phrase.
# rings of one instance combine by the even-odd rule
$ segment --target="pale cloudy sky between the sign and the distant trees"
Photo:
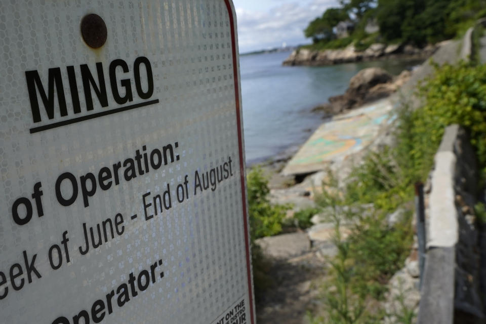
[[[304,29],[338,0],[233,0],[239,52],[308,44]]]

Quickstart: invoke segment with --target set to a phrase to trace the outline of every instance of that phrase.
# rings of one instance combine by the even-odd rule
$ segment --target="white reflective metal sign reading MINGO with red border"
[[[235,28],[0,4],[0,323],[254,323]]]

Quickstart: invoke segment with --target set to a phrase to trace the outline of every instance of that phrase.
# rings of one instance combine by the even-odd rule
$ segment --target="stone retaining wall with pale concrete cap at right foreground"
[[[418,323],[484,323],[474,216],[478,173],[464,129],[446,128],[434,161]]]

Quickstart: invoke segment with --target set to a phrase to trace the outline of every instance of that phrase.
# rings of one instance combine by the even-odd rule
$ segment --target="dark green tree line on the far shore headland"
[[[351,43],[362,50],[373,43],[422,47],[460,35],[486,15],[486,0],[340,0],[339,4],[304,30],[312,38],[312,48],[335,49]]]

